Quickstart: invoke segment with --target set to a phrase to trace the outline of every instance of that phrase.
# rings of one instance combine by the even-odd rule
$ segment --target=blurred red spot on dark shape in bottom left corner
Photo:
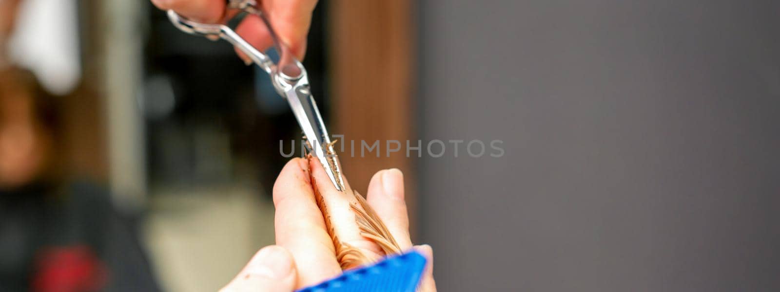
[[[47,248],[37,260],[32,290],[37,292],[84,292],[101,290],[106,269],[84,245]]]

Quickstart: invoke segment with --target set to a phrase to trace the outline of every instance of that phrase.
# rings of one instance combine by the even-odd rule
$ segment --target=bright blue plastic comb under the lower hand
[[[297,292],[399,291],[414,292],[425,269],[425,257],[407,252],[372,266],[353,269],[341,276]]]

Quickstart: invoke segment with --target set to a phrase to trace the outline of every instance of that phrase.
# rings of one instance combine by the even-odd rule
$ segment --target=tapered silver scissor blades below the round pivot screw
[[[343,191],[339,157],[333,150],[328,129],[325,128],[317,103],[311,96],[308,80],[305,80],[306,77],[303,78],[304,80],[300,80],[296,86],[285,91],[285,97],[293,109],[300,128],[303,129],[303,134],[306,135],[312,155],[320,161],[333,186]]]

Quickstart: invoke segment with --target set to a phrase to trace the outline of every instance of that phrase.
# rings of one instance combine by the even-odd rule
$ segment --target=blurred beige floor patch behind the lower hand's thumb
[[[161,287],[215,291],[274,243],[274,208],[261,188],[152,188],[144,237]]]

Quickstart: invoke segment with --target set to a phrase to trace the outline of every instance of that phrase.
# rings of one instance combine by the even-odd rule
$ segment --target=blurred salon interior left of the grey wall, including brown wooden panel
[[[261,69],[148,1],[0,4],[0,290],[213,291],[274,243],[301,134]],[[314,12],[314,97],[334,134],[404,139],[410,5],[353,4]],[[413,181],[400,155],[344,164],[361,192],[381,168]]]

